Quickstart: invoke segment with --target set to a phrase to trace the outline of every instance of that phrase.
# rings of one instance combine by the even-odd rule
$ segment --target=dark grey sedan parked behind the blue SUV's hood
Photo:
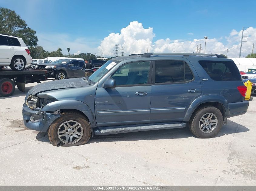
[[[60,59],[52,63],[40,63],[39,69],[52,70],[49,77],[57,80],[66,78],[79,78],[85,77],[85,70],[80,70],[85,61],[74,59]]]

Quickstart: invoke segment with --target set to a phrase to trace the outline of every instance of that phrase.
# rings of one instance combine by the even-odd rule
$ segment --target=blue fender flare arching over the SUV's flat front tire
[[[91,123],[91,128],[96,127],[96,123],[91,112],[91,109],[86,105],[84,102],[77,101],[77,100],[60,100],[55,101],[52,103],[48,103],[45,107],[43,107],[42,111],[49,112],[49,111],[56,111],[56,110],[63,110],[63,109],[72,109],[72,110],[79,110],[83,112],[89,119]],[[92,130],[92,129],[91,129]]]

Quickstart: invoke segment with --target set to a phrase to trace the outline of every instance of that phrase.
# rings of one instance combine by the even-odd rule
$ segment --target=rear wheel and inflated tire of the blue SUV
[[[205,120],[203,120],[203,117]],[[208,117],[210,120],[208,119]],[[217,120],[214,122],[215,118]],[[214,126],[214,123],[217,124]],[[193,135],[199,138],[211,138],[218,134],[218,132],[221,130],[222,124],[223,116],[221,111],[216,107],[206,105],[198,108],[193,113],[189,121],[189,130],[192,132]]]

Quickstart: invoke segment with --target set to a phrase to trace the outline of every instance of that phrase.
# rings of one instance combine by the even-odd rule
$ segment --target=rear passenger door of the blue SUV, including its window
[[[182,59],[154,62],[150,123],[182,122],[191,103],[201,97],[198,75]]]

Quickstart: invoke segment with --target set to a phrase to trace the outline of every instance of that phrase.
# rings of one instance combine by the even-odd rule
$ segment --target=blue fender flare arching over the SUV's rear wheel
[[[218,94],[203,95],[201,97],[196,98],[188,107],[188,110],[184,117],[184,121],[188,122],[192,114],[196,110],[196,108],[202,103],[208,103],[208,102],[217,102],[217,103],[221,103],[222,105],[228,104],[228,101],[221,95],[218,95]]]

